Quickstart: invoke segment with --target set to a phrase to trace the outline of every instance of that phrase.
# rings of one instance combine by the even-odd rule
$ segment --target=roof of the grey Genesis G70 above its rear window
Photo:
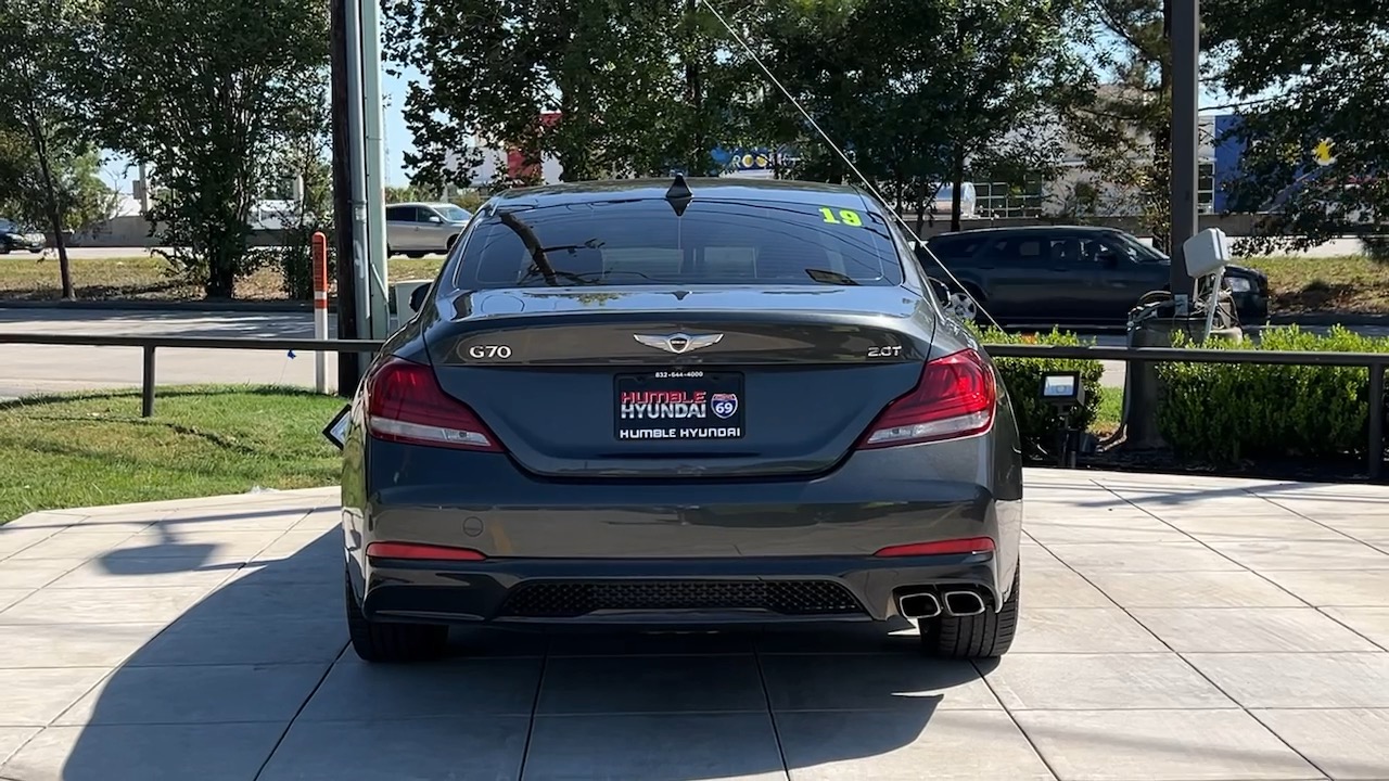
[[[665,197],[675,179],[606,179],[567,182],[538,188],[517,188],[496,196],[497,206],[563,206],[610,200],[654,200]],[[867,199],[849,185],[801,182],[796,179],[738,179],[688,176],[694,200],[743,200],[764,203],[814,203],[815,206],[863,208]]]

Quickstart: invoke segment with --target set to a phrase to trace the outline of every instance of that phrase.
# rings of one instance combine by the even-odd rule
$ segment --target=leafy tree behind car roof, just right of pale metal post
[[[753,7],[751,0],[729,6]],[[406,121],[414,183],[469,186],[483,143],[567,181],[713,170],[713,149],[739,136],[746,68],[696,0],[388,0],[386,50],[424,74]],[[467,29],[467,35],[460,35]],[[546,115],[557,117],[543,120]]]

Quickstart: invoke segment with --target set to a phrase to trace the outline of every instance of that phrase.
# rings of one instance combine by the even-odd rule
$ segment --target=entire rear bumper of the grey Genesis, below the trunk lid
[[[1021,464],[1013,447],[992,450],[1000,439],[920,446],[920,460],[904,457],[911,447],[864,450],[808,481],[565,484],[503,454],[358,438],[343,474],[349,570],[375,620],[881,621],[900,589],[956,585],[997,609],[1022,521]],[[992,553],[874,556],[979,536]],[[372,542],[486,559],[376,559]]]

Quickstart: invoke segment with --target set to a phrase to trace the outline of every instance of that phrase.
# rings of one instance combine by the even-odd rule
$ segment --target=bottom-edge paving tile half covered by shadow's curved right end
[[[1053,778],[1007,713],[939,710],[913,716],[776,714],[792,781]]]

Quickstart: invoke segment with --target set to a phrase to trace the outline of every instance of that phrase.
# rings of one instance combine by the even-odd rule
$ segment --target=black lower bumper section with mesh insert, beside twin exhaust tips
[[[968,588],[997,609],[995,554],[914,559],[382,560],[365,570],[374,620],[724,625],[885,621],[896,596]],[[1011,567],[1010,567],[1011,571]],[[1011,582],[1011,581],[1007,581]]]

